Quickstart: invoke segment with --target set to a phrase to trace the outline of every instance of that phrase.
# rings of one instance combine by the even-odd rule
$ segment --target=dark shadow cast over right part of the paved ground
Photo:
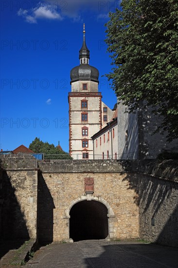
[[[113,243],[113,242],[112,242]],[[85,268],[177,268],[178,249],[155,244],[120,244],[102,246],[103,253],[85,258]],[[97,247],[93,247],[97,255]],[[99,249],[98,249],[99,250]],[[88,252],[89,253],[89,252]]]

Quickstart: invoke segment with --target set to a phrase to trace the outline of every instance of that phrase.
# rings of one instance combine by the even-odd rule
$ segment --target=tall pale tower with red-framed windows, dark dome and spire
[[[68,97],[69,152],[73,159],[93,159],[91,136],[106,125],[108,113],[113,113],[102,102],[101,92],[98,92],[99,71],[89,65],[85,24],[83,34],[83,44],[79,51],[80,65],[71,69],[71,92]]]

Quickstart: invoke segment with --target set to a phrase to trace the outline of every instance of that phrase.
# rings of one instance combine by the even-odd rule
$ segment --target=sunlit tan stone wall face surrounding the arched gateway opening
[[[50,228],[53,228],[54,241],[70,238],[69,212],[73,204],[87,199],[84,191],[84,178],[86,177],[94,179],[92,200],[106,204],[113,211],[113,214],[108,215],[110,238],[139,237],[139,208],[134,203],[136,193],[132,189],[126,191],[125,173],[42,173],[42,176],[43,188],[40,191],[42,191],[41,197],[44,196],[44,201],[42,202],[41,199],[39,205],[39,210],[42,211],[39,240],[49,234]],[[52,199],[49,196],[47,200],[48,206],[46,189],[49,189],[52,196]],[[53,217],[53,226],[50,217]]]

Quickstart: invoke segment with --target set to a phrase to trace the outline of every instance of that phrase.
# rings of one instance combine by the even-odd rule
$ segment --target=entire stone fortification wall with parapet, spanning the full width
[[[95,200],[107,207],[111,239],[140,236],[178,246],[178,161],[44,163],[23,154],[1,159],[2,219],[9,230],[13,226],[17,237],[35,238],[37,228],[39,241],[67,240],[71,207],[82,200]],[[93,194],[85,193],[86,177],[94,180]]]

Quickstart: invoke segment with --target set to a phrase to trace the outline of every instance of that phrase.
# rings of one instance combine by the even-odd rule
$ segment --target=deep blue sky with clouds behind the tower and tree
[[[69,152],[70,71],[79,65],[86,25],[90,65],[100,72],[99,91],[112,109],[107,78],[108,12],[119,1],[7,0],[0,2],[0,149],[14,150],[39,137]]]

